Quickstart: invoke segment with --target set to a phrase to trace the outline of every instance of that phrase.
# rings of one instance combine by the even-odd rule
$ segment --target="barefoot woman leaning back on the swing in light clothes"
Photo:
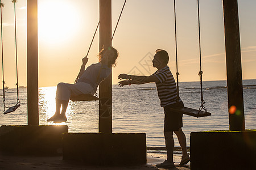
[[[115,60],[118,57],[118,52],[112,46],[104,48],[98,53],[98,63],[94,63],[86,68],[88,58],[82,58],[82,66],[77,76],[75,84],[59,83],[56,91],[56,112],[47,121],[61,123],[67,121],[65,112],[68,107],[68,101],[71,96],[79,96],[82,94],[94,94],[98,85],[102,80],[106,79],[111,74],[111,67],[116,65]],[[62,110],[60,112],[60,108]]]

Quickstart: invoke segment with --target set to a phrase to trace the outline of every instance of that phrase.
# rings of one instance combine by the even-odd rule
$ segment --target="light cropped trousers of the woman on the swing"
[[[90,84],[84,82],[77,82],[76,84],[59,83],[57,85],[56,99],[69,101],[71,96],[93,95],[95,91]]]

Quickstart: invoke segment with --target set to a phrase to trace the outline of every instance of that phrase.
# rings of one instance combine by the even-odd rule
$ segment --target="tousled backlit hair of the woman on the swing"
[[[107,47],[107,48],[103,48],[103,49],[100,51],[100,53],[98,53],[98,60],[101,62],[101,59],[102,59],[102,57],[104,57],[104,54],[105,54],[106,52],[110,51],[110,50],[111,50],[111,52],[112,52],[113,57],[108,58],[108,66],[115,67],[115,66],[117,65],[117,63],[115,62],[115,60],[116,60],[117,57],[118,57],[118,51],[117,51],[115,48],[113,48],[112,46],[109,46],[109,47]]]

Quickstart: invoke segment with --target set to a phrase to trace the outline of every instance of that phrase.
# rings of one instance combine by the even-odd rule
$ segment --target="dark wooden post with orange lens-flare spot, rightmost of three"
[[[229,130],[245,130],[237,0],[223,0]]]

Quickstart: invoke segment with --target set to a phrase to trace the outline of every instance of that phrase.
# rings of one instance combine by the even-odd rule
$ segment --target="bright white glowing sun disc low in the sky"
[[[80,16],[72,1],[38,1],[38,36],[49,44],[69,40],[79,28]]]

